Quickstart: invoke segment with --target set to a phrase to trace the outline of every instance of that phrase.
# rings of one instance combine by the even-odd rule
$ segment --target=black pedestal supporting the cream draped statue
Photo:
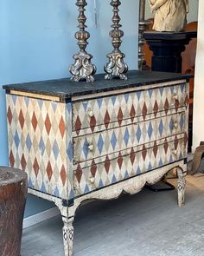
[[[197,36],[196,31],[190,32],[143,32],[143,38],[153,52],[151,70],[164,72],[182,72],[182,51],[185,45]]]

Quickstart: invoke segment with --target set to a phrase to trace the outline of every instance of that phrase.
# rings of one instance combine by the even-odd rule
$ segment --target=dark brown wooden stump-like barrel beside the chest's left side
[[[27,190],[26,173],[13,167],[0,167],[1,256],[20,255]]]

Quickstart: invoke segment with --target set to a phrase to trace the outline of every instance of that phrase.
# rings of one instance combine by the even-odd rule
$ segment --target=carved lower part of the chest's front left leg
[[[72,256],[73,255],[73,217],[69,219],[67,217],[62,217],[62,220],[64,222],[62,231],[63,231],[65,256]]]

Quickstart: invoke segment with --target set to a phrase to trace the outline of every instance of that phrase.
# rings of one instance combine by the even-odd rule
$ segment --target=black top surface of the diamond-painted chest
[[[16,90],[40,95],[59,96],[68,99],[72,96],[90,95],[115,89],[127,89],[159,82],[169,82],[180,79],[188,80],[192,75],[177,73],[150,72],[132,70],[127,73],[128,80],[105,80],[104,74],[95,75],[95,82],[70,82],[69,78],[41,82],[26,82],[4,85],[7,91]]]

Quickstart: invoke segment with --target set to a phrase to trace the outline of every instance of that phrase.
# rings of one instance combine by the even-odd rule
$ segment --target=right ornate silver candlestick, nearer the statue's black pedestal
[[[120,79],[127,79],[127,76],[124,75],[128,66],[124,63],[124,53],[122,53],[119,49],[122,41],[121,37],[124,36],[124,31],[119,30],[122,27],[120,22],[120,17],[118,15],[118,6],[121,4],[119,0],[112,0],[111,5],[113,7],[113,17],[112,17],[112,31],[110,32],[110,36],[112,37],[112,53],[108,54],[109,62],[105,64],[105,79],[112,79],[113,77],[119,77]]]

